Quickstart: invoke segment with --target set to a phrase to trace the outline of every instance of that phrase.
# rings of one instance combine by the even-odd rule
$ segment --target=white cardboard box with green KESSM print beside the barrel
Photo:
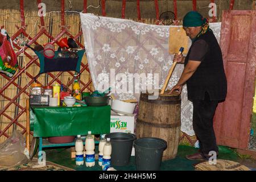
[[[118,115],[111,111],[110,115],[110,133],[123,132],[134,134],[135,114]],[[131,156],[135,155],[134,147],[131,151]]]

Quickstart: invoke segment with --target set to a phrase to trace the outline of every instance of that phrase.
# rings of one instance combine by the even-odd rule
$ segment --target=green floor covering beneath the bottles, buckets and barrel
[[[218,146],[219,148],[219,156],[218,159],[232,160],[239,162],[240,157],[234,152],[230,150],[229,147]],[[160,171],[194,171],[195,167],[193,164],[199,163],[198,160],[188,160],[185,158],[185,155],[191,155],[198,152],[198,148],[191,146],[179,146],[177,156],[175,159],[164,160],[162,161],[162,165],[160,167]],[[98,166],[98,161],[96,160],[96,164],[94,167],[85,167],[76,166],[75,159],[71,159],[71,151],[69,148],[55,148],[54,150],[46,150],[47,160],[53,163],[61,164],[63,166],[67,166],[69,168],[73,168],[76,171],[102,171],[102,168]],[[97,146],[96,146],[96,154],[97,154]],[[136,163],[135,157],[131,156],[129,164],[126,166],[113,166],[118,171],[135,171]]]

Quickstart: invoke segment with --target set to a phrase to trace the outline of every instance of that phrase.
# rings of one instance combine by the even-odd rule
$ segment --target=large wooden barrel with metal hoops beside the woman
[[[167,91],[168,92],[168,91]],[[137,138],[156,137],[166,140],[163,160],[174,159],[180,139],[181,99],[177,94],[163,94],[148,100],[148,93],[141,93],[136,125]]]

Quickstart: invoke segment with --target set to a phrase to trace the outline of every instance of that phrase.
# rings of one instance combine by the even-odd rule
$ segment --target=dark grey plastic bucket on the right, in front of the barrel
[[[158,171],[167,148],[166,140],[154,137],[134,141],[135,162],[138,171]]]

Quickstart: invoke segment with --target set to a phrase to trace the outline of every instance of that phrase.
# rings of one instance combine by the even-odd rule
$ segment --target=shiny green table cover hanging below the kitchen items
[[[110,133],[110,106],[32,107],[34,137],[60,137]]]

